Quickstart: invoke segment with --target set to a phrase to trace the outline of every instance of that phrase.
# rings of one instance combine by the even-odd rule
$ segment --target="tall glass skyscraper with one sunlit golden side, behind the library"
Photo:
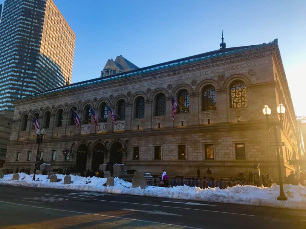
[[[52,0],[6,0],[0,24],[0,112],[71,83],[76,36]]]

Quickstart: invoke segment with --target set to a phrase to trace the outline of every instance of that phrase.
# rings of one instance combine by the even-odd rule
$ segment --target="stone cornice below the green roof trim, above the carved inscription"
[[[103,84],[100,84],[100,85],[99,84],[84,85],[82,89],[72,88],[72,89],[67,89],[63,91],[57,91],[57,92],[50,93],[50,94],[45,94],[39,97],[29,97],[28,99],[24,98],[22,100],[16,101],[14,105],[18,106],[20,104],[36,103],[36,102],[43,101],[46,99],[60,98],[60,97],[66,96],[67,93],[69,93],[69,95],[72,96],[72,95],[76,95],[80,93],[96,91],[100,89],[107,89],[111,87],[127,85],[127,84],[136,83],[140,81],[149,81],[151,79],[156,79],[156,78],[171,76],[171,75],[177,75],[177,74],[181,74],[181,73],[188,72],[188,71],[195,71],[198,69],[215,67],[218,65],[229,64],[229,63],[233,63],[233,62],[237,62],[241,60],[268,56],[268,55],[272,55],[274,52],[275,52],[274,45],[268,46],[268,47],[264,46],[264,47],[258,48],[258,50],[257,49],[249,50],[246,52],[230,54],[225,57],[215,57],[215,58],[211,58],[208,60],[203,60],[201,61],[201,63],[198,63],[198,62],[191,63],[189,65],[186,64],[186,65],[173,67],[173,68],[169,68],[169,69],[165,69],[161,71],[143,73],[143,74],[134,76],[132,78],[119,78],[113,81],[104,82]]]

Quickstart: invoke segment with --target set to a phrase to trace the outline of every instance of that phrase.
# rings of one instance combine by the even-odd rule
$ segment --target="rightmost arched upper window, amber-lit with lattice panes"
[[[247,90],[241,80],[233,82],[230,86],[230,104],[233,108],[247,106]]]

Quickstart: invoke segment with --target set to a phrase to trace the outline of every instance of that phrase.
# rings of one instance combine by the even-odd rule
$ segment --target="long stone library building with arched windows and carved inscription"
[[[100,78],[73,83],[14,102],[12,133],[3,169],[31,168],[37,152],[32,116],[45,129],[40,158],[53,169],[97,170],[109,162],[169,176],[238,176],[260,163],[260,172],[278,178],[274,132],[263,108],[286,108],[277,130],[283,175],[299,168],[304,145],[278,40],[226,48],[139,68],[118,56]],[[119,63],[120,62],[120,63]],[[125,67],[123,67],[125,66]],[[177,101],[172,119],[172,96]],[[114,123],[108,112],[116,113]],[[98,125],[90,112],[98,114]],[[73,111],[80,116],[77,128]],[[65,154],[70,151],[70,155]]]

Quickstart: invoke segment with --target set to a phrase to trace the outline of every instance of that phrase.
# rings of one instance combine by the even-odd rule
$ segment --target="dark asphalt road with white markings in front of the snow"
[[[305,222],[301,210],[0,185],[0,228],[299,229]]]

